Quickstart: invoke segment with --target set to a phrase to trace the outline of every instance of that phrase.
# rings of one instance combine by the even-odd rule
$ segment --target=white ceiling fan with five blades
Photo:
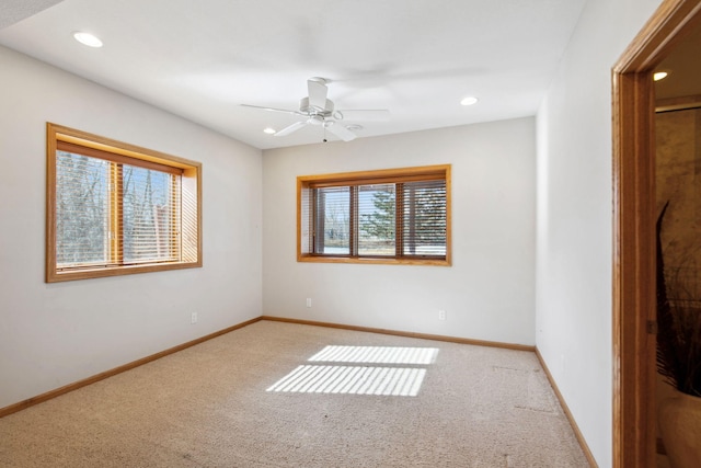
[[[388,110],[334,110],[333,101],[329,95],[329,81],[324,78],[310,78],[307,80],[309,95],[299,101],[299,111],[285,109],[264,107],[260,105],[241,104],[244,107],[261,109],[263,111],[283,112],[303,117],[302,121],[276,132],[274,136],[281,137],[307,126],[318,125],[331,132],[344,141],[355,139],[356,135],[342,124],[342,121],[386,121],[390,116]],[[350,126],[353,128],[353,126]],[[324,138],[325,141],[325,138]]]

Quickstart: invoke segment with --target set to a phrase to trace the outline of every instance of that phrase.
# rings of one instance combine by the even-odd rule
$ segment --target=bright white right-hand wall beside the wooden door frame
[[[659,0],[587,0],[538,113],[537,346],[589,448],[612,457],[611,67]]]

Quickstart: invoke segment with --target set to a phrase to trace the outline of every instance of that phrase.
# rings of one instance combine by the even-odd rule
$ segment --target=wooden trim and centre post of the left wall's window
[[[53,123],[46,124],[46,283],[183,270],[203,265],[202,163]],[[183,210],[187,209],[187,214],[183,213],[181,219],[183,222],[181,260],[120,265],[117,264],[119,259],[114,255],[114,252],[120,251],[119,246],[115,244],[119,240],[112,239],[110,240],[112,246],[108,264],[94,267],[58,269],[56,264],[56,151],[58,149],[68,151],[80,149],[80,152],[85,156],[181,175],[180,203]],[[113,183],[120,180],[117,172],[117,170],[112,171]],[[115,194],[117,192],[120,191],[114,191]],[[115,204],[112,203],[111,206],[115,206]],[[119,231],[122,224],[120,216],[111,217],[111,228]]]

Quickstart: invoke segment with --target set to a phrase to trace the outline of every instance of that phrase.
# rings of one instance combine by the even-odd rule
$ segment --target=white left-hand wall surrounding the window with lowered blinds
[[[2,47],[0,70],[0,408],[261,315],[260,150]],[[200,161],[204,267],[44,283],[47,121]]]

